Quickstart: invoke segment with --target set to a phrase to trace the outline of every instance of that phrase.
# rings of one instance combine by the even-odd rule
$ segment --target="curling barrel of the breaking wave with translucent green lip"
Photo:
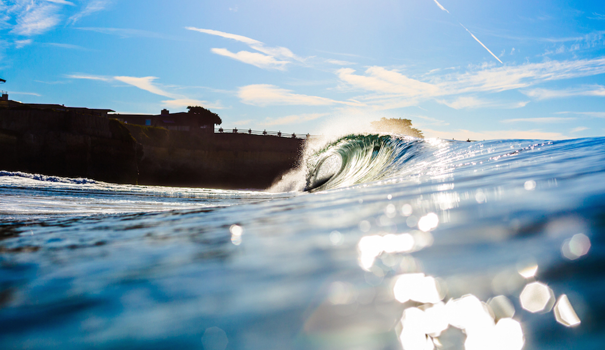
[[[307,157],[304,190],[384,180],[422,154],[425,141],[402,135],[348,135]]]

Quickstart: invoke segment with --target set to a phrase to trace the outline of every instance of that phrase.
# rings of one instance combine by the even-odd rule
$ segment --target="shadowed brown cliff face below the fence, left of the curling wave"
[[[304,140],[126,125],[142,144],[140,184],[264,189],[296,166]]]

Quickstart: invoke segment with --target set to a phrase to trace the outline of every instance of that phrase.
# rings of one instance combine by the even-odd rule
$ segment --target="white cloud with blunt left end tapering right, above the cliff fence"
[[[336,101],[319,96],[294,94],[291,90],[281,89],[275,85],[255,84],[242,86],[238,89],[237,96],[242,103],[253,106],[278,106],[278,105],[303,105],[303,106],[328,106],[328,105],[352,105],[362,106],[359,102]]]

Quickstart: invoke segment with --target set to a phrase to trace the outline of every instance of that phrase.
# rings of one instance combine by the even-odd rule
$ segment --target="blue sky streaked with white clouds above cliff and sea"
[[[605,135],[603,1],[0,0],[0,89],[223,128]]]

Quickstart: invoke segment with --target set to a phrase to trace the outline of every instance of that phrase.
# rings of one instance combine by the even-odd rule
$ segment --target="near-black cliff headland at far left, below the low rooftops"
[[[0,169],[137,183],[137,142],[117,120],[0,109]]]

